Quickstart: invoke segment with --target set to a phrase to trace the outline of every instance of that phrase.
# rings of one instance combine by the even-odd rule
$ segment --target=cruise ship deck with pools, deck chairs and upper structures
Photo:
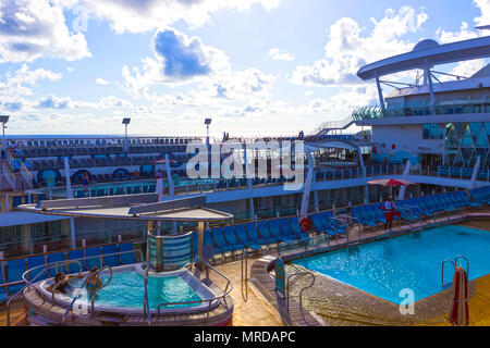
[[[490,69],[434,69],[489,55],[422,40],[359,70],[379,105],[306,135],[10,137],[0,323],[488,325]]]

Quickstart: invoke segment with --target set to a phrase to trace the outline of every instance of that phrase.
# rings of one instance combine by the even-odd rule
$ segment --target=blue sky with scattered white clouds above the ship
[[[363,65],[488,24],[490,0],[0,0],[0,114],[11,135],[308,134],[379,103]]]

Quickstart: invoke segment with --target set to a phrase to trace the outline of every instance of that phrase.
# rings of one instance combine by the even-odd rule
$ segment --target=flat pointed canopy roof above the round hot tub
[[[155,201],[155,195],[126,195],[103,198],[47,200],[19,208],[33,213],[101,219],[144,221],[222,221],[232,214],[204,207],[206,196]]]

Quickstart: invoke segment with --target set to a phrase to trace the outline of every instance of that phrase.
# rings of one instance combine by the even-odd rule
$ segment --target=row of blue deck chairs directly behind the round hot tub
[[[0,302],[7,300],[9,296],[17,293],[23,286],[22,275],[36,266],[45,265],[51,262],[62,262],[68,260],[81,259],[82,271],[88,271],[94,266],[102,268],[105,265],[118,266],[123,264],[131,264],[142,260],[136,260],[132,243],[105,245],[99,247],[88,247],[83,249],[74,249],[70,251],[60,251],[53,253],[44,253],[22,259],[13,259],[1,262],[2,278],[0,284]],[[95,257],[95,258],[90,258]],[[87,259],[90,258],[90,259]],[[30,276],[34,278],[41,273],[44,268],[33,271]],[[59,270],[48,270],[48,276],[54,276],[57,272],[78,273],[81,272],[77,263],[70,263],[60,266]],[[36,281],[41,281],[47,277],[46,272],[39,275]]]

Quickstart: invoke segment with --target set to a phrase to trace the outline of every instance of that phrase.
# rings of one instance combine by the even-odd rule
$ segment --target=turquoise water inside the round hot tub
[[[108,276],[101,276],[106,284]],[[79,287],[83,279],[73,281],[74,287]],[[87,300],[87,293],[82,291],[82,300]],[[97,293],[96,304],[121,308],[143,308],[145,285],[138,272],[114,273],[111,283]],[[157,309],[163,302],[198,301],[201,298],[180,276],[149,277],[148,301],[150,309]],[[201,303],[164,306],[164,308],[195,307]]]

